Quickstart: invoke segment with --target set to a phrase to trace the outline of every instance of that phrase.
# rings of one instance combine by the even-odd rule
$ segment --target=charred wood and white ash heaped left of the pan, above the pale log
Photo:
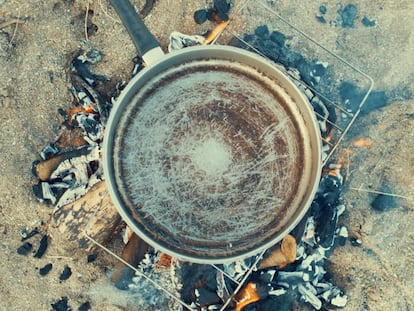
[[[89,70],[88,64],[96,64],[101,58],[96,50],[74,53],[68,69],[74,107],[58,110],[64,118],[60,136],[41,151],[41,160],[32,166],[39,178],[33,186],[34,194],[55,209],[81,198],[104,179],[104,128],[122,84],[114,88],[110,79]]]

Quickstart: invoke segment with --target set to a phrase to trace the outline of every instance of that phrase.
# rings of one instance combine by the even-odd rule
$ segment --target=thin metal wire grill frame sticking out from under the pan
[[[346,115],[349,118],[349,121],[345,124],[345,126],[340,125],[340,124],[337,124],[337,123],[334,123],[334,122],[332,122],[330,120],[327,120],[327,122],[329,123],[329,125],[332,126],[333,128],[335,128],[340,133],[340,135],[337,136],[334,141],[329,141],[328,139],[323,138],[324,144],[327,145],[327,146],[329,146],[328,154],[325,157],[325,159],[322,160],[323,161],[323,165],[326,165],[326,163],[329,161],[329,159],[331,158],[331,156],[334,154],[334,152],[336,151],[338,145],[341,143],[341,141],[343,140],[343,138],[345,137],[345,135],[347,134],[347,132],[349,131],[349,129],[353,126],[356,118],[360,114],[361,108],[363,107],[365,101],[367,100],[369,94],[371,93],[371,91],[373,89],[374,81],[373,81],[373,79],[369,75],[365,74],[364,72],[362,72],[361,70],[359,70],[358,68],[356,68],[354,65],[352,65],[351,63],[349,63],[348,61],[346,61],[345,59],[343,59],[341,56],[339,56],[336,53],[334,53],[334,52],[330,51],[329,49],[325,48],[318,41],[316,41],[315,39],[313,39],[312,37],[310,37],[308,34],[306,34],[305,32],[303,32],[302,30],[300,30],[298,27],[296,27],[294,24],[292,24],[291,22],[289,22],[288,20],[286,20],[282,16],[280,16],[277,12],[275,12],[273,9],[271,9],[264,1],[261,1],[261,0],[245,0],[245,1],[242,1],[240,4],[238,4],[234,8],[234,10],[237,12],[235,16],[237,16],[237,14],[240,14],[241,11],[244,8],[246,8],[251,3],[254,3],[255,5],[262,6],[264,10],[266,10],[269,13],[271,13],[272,15],[274,15],[279,21],[281,21],[282,23],[284,23],[286,26],[290,27],[292,30],[296,31],[299,35],[303,36],[306,40],[308,40],[308,41],[312,42],[313,44],[315,44],[318,48],[320,48],[325,53],[327,53],[327,54],[331,55],[332,57],[334,57],[338,62],[340,62],[343,65],[347,66],[349,69],[352,69],[354,72],[358,73],[361,77],[365,78],[366,81],[368,82],[368,85],[369,85],[368,86],[368,89],[367,89],[366,93],[364,94],[364,96],[362,97],[361,102],[358,104],[358,108],[356,109],[355,112],[350,112],[348,109],[346,109],[346,107],[344,107],[343,105],[341,105],[339,102],[330,99],[329,96],[326,96],[325,94],[323,94],[323,93],[319,92],[318,90],[316,90],[314,87],[312,87],[312,86],[310,86],[308,84],[305,84],[303,81],[301,81],[300,79],[297,79],[297,77],[295,77],[294,75],[291,75],[289,73],[289,71],[287,71],[287,74],[293,80],[295,80],[295,82],[297,84],[302,85],[305,88],[310,89],[313,92],[314,95],[318,96],[325,103],[328,103],[328,104],[332,105],[340,113],[343,113],[344,115]],[[231,25],[231,21],[232,21],[232,19],[230,19],[230,23],[228,25]],[[226,26],[226,28],[229,27],[228,25]],[[264,56],[266,58],[266,56],[263,55],[260,51],[258,51],[252,45],[250,45],[249,43],[247,43],[246,41],[244,41],[242,38],[240,38],[240,36],[237,33],[233,32],[232,30],[229,30],[229,29],[224,29],[221,32],[221,34],[213,41],[213,44],[216,43],[217,40],[219,39],[219,37],[223,33],[225,33],[226,31],[230,32],[234,37],[236,37],[238,40],[240,40],[241,42],[243,42],[244,44],[246,44],[246,46],[249,46],[249,48],[251,48],[252,50],[254,50],[255,52],[261,54],[262,56]],[[110,254],[111,256],[113,256],[114,258],[116,258],[117,260],[121,261],[122,263],[124,263],[126,266],[128,266],[132,270],[134,270],[137,275],[140,275],[141,277],[145,278],[154,287],[162,290],[166,296],[168,296],[171,299],[174,299],[175,301],[179,302],[184,308],[187,308],[188,310],[191,310],[192,307],[190,305],[188,305],[187,303],[185,303],[180,297],[176,297],[163,284],[159,284],[157,281],[154,281],[153,279],[151,279],[150,276],[148,276],[145,273],[141,272],[136,267],[133,267],[132,265],[130,265],[128,262],[126,262],[125,260],[123,260],[121,257],[119,257],[117,254],[115,254],[113,251],[111,251],[110,249],[108,249],[104,245],[102,245],[99,242],[97,242],[93,237],[91,237],[88,234],[88,228],[89,228],[92,220],[96,217],[96,212],[98,210],[99,210],[99,208],[95,211],[95,213],[92,215],[91,219],[89,220],[88,224],[86,225],[86,227],[84,229],[85,236],[91,242],[93,242],[95,245],[97,245],[98,247],[100,247],[101,249],[103,249],[105,252],[107,252],[108,254]],[[224,311],[229,306],[229,304],[233,301],[234,296],[245,285],[245,283],[248,281],[248,279],[249,279],[250,275],[252,274],[252,272],[257,269],[258,264],[259,264],[260,260],[263,258],[263,255],[264,255],[265,252],[266,252],[266,250],[262,251],[260,254],[258,254],[256,256],[255,261],[249,267],[249,269],[245,272],[245,274],[243,275],[243,277],[241,278],[240,281],[234,279],[231,275],[227,274],[223,269],[221,269],[217,265],[211,265],[214,269],[216,269],[217,271],[223,273],[226,277],[228,277],[229,279],[231,279],[233,282],[235,282],[237,284],[237,287],[236,287],[234,293],[227,299],[227,301],[225,301],[225,303],[222,306],[222,308],[220,309],[220,311]]]

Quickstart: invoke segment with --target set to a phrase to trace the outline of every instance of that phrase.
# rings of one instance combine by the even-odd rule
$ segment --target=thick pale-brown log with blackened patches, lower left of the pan
[[[120,222],[121,217],[112,203],[106,184],[101,181],[80,199],[58,209],[52,216],[51,227],[57,228],[67,240],[76,241],[79,248],[91,251],[95,244],[85,235],[86,226],[89,236],[105,244]]]

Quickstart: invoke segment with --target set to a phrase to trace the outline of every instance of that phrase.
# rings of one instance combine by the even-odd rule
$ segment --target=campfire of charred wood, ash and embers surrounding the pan
[[[230,5],[219,5],[224,2],[215,1],[211,10],[195,13],[197,23],[207,19],[216,23],[209,35],[175,32],[169,49],[213,42],[228,24]],[[346,305],[346,294],[332,283],[325,267],[335,247],[348,239],[347,228],[338,226],[338,219],[345,211],[341,197],[344,161],[327,163],[334,146],[332,141],[338,136],[336,122],[341,116],[335,106],[315,91],[328,83],[328,65],[320,60],[307,60],[290,50],[286,40],[284,33],[260,25],[254,33],[246,33],[243,40],[233,38],[230,44],[265,54],[296,77],[293,81],[315,111],[324,141],[326,166],[308,213],[281,243],[248,259],[217,266],[180,262],[151,248],[121,220],[109,196],[102,196],[106,191],[103,134],[111,107],[126,82],[116,84],[93,73],[93,65],[101,59],[99,51],[73,54],[68,79],[74,107],[60,110],[64,118],[61,135],[43,149],[42,159],[34,162],[33,172],[39,183],[33,186],[33,191],[40,201],[53,206],[54,222],[69,239],[78,242],[79,248],[96,250],[97,244],[107,249],[111,239],[123,235],[126,244],[121,255],[123,261],[116,264],[111,281],[119,289],[135,291],[140,297],[137,303],[142,303],[143,308],[154,305],[157,309],[171,310],[290,310],[294,304],[306,303],[320,310]],[[135,64],[131,77],[143,69],[139,58]],[[370,144],[366,140],[355,143]],[[219,147],[217,142],[207,141],[200,150],[195,150],[194,161],[202,160],[198,155],[217,149],[215,163],[220,165],[202,164],[208,165],[212,174],[220,173],[228,157]],[[31,248],[26,245],[21,252],[28,247]]]

